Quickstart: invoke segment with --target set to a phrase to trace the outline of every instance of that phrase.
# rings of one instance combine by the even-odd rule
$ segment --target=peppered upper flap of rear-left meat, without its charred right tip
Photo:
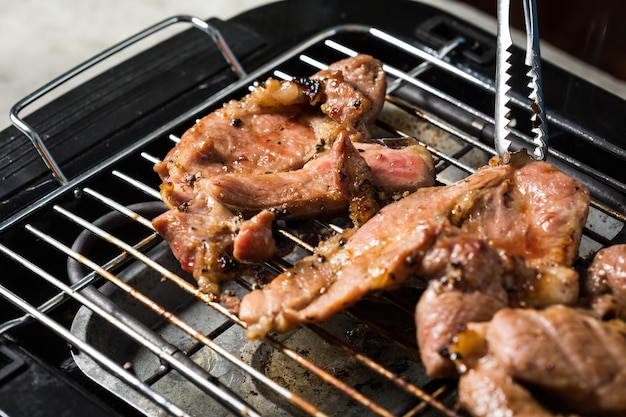
[[[333,140],[336,128],[311,106],[302,86],[269,79],[198,121],[155,165],[163,201],[179,207],[198,193],[198,180],[218,174],[301,168]]]

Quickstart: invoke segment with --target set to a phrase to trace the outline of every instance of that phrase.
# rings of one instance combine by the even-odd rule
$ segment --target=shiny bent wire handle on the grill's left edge
[[[230,46],[226,43],[220,31],[216,27],[214,27],[210,23],[195,16],[176,15],[176,16],[169,17],[159,23],[156,23],[150,26],[149,28],[137,33],[136,35],[131,36],[130,38],[112,46],[109,49],[106,49],[105,51],[94,56],[93,58],[74,67],[73,69],[69,70],[68,72],[64,73],[63,75],[57,77],[56,79],[52,80],[48,84],[34,91],[30,95],[26,96],[22,100],[18,101],[11,108],[11,111],[9,113],[9,118],[11,119],[11,122],[17,129],[19,129],[22,133],[24,133],[30,139],[33,146],[37,150],[37,153],[43,159],[44,163],[50,169],[52,175],[54,176],[54,178],[57,180],[57,182],[60,185],[66,185],[69,182],[67,176],[63,173],[63,171],[61,170],[61,167],[55,161],[54,157],[48,150],[41,135],[30,124],[26,123],[24,119],[22,119],[19,116],[19,113],[26,106],[32,104],[36,100],[45,96],[46,94],[49,94],[50,92],[52,92],[53,90],[61,86],[62,84],[68,82],[69,80],[73,79],[79,74],[82,74],[88,69],[110,58],[111,56],[121,52],[122,50],[130,47],[131,45],[134,45],[137,42],[143,39],[146,39],[149,36],[167,27],[170,27],[174,24],[181,23],[181,22],[191,24],[194,28],[199,29],[205,32],[207,35],[209,35],[211,37],[211,40],[215,43],[215,45],[221,52],[222,57],[224,58],[226,63],[230,66],[231,70],[240,79],[244,78],[247,75],[246,71],[243,69],[243,67],[237,60],[237,57],[232,52]]]

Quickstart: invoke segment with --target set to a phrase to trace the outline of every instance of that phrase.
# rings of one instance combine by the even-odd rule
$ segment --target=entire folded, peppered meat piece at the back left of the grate
[[[364,221],[376,209],[366,207],[378,202],[381,190],[403,192],[432,183],[428,153],[387,152],[366,144],[361,153],[352,146],[352,140],[369,137],[368,124],[378,116],[385,90],[381,63],[358,55],[311,78],[268,79],[184,133],[155,166],[170,210],[153,224],[201,290],[217,293],[218,283],[234,276],[237,260],[258,262],[274,253],[268,217],[246,220],[263,209],[297,217],[344,214],[350,207],[352,217]],[[333,145],[338,136],[341,142]],[[390,165],[403,168],[395,170],[389,186],[378,183],[390,175],[376,171]],[[338,179],[318,184],[315,180],[327,180],[328,167]],[[312,181],[303,185],[302,175]],[[316,204],[301,201],[301,194]],[[262,237],[257,245],[263,248],[251,246],[251,236]]]

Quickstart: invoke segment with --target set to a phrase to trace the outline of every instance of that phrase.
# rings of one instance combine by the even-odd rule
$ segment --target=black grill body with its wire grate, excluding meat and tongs
[[[185,30],[20,116],[171,26]],[[229,21],[176,16],[16,104],[15,127],[0,134],[0,410],[459,415],[454,382],[429,379],[419,361],[413,310],[421,283],[249,342],[237,317],[196,291],[150,225],[164,210],[152,166],[196,118],[269,76],[309,75],[355,53],[381,59],[389,77],[374,135],[417,137],[441,184],[495,154],[493,35],[403,0],[292,0]],[[549,62],[543,72],[547,159],[585,182],[593,199],[577,265],[584,268],[601,247],[624,242],[626,103]],[[530,140],[525,88],[514,88],[514,148]],[[245,294],[341,222],[281,222],[288,254],[224,291]]]

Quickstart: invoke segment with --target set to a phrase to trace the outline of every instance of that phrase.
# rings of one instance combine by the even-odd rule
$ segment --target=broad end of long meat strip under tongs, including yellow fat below
[[[512,292],[513,305],[573,304],[579,296],[576,259],[589,210],[589,193],[554,166],[513,156],[509,171],[476,199],[464,198],[453,222],[508,255],[520,257],[538,274],[523,274]],[[515,258],[510,258],[515,259]]]

